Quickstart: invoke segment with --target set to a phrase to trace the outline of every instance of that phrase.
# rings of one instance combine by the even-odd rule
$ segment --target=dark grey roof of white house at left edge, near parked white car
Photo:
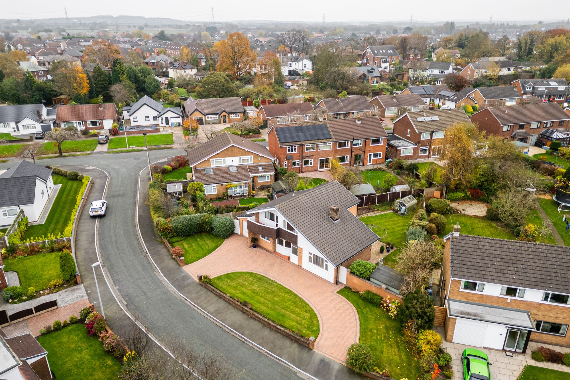
[[[0,174],[0,207],[31,205],[35,199],[36,178],[47,182],[51,169],[20,161]]]

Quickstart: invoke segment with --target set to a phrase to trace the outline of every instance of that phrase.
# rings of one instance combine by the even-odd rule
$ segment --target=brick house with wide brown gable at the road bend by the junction
[[[192,178],[204,185],[206,198],[249,195],[275,181],[273,156],[263,145],[223,132],[188,152]],[[234,187],[227,188],[231,183]]]

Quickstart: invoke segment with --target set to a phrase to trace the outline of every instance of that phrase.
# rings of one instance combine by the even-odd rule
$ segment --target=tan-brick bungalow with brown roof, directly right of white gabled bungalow
[[[242,121],[245,109],[239,97],[218,97],[212,99],[193,99],[184,102],[186,117],[196,120],[200,125],[227,124]]]

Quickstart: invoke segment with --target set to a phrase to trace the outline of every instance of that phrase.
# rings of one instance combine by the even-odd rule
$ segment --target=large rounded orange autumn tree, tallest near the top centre
[[[231,33],[227,39],[214,44],[219,53],[218,71],[225,71],[232,80],[251,73],[257,56],[250,49],[249,40],[240,32]]]

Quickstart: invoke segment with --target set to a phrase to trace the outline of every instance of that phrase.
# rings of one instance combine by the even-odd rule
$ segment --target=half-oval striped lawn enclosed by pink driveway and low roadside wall
[[[319,335],[319,319],[298,295],[265,276],[251,272],[231,272],[212,279],[220,291],[251,304],[270,320],[304,337]]]

